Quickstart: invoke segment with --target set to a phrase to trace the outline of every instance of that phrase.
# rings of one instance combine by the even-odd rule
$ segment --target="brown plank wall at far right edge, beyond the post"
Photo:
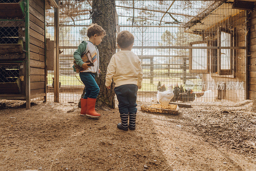
[[[254,6],[256,9],[256,5]],[[256,99],[256,11],[249,14],[248,96]]]

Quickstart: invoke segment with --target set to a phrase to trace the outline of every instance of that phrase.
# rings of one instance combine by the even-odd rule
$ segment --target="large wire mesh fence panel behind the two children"
[[[61,103],[78,101],[84,89],[72,65],[75,47],[88,40],[91,3],[59,1]],[[134,35],[132,51],[142,64],[138,101],[156,101],[157,90],[171,85],[176,96],[172,101],[245,98],[244,10],[233,9],[228,1],[118,0],[116,12],[117,33],[128,30]],[[53,9],[46,16],[47,38],[54,40]],[[48,71],[51,101],[52,77],[53,71]]]

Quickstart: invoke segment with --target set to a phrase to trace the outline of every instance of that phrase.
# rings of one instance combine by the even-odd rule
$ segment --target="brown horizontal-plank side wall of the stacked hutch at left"
[[[29,0],[30,94],[45,93],[44,0]]]

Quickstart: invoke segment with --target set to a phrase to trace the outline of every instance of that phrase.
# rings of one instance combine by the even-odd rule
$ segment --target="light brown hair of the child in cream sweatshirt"
[[[120,48],[127,48],[134,43],[134,36],[127,30],[121,31],[116,37],[116,42]]]

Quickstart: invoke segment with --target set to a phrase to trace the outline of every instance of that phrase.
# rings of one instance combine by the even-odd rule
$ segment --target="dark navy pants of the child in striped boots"
[[[125,84],[115,87],[114,90],[118,100],[119,112],[121,114],[136,113],[138,86],[136,84]]]

